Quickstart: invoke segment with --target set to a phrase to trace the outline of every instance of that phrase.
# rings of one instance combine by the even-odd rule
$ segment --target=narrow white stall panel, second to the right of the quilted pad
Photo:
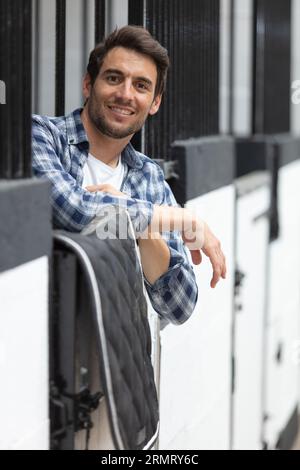
[[[262,186],[237,200],[237,268],[245,277],[235,297],[233,448],[261,448],[263,332],[270,193]],[[239,308],[238,308],[239,307]]]

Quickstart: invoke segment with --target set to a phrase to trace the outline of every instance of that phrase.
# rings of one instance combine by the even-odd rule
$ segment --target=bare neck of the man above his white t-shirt
[[[81,120],[89,141],[89,152],[101,162],[115,168],[131,136],[113,139],[102,134],[89,119],[86,107],[81,112]]]

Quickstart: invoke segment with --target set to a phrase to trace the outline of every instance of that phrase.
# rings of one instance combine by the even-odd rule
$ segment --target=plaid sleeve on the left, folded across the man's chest
[[[32,127],[32,167],[34,175],[51,182],[53,224],[72,232],[80,232],[106,206],[119,206],[129,212],[134,229],[143,231],[151,222],[153,204],[133,198],[119,198],[107,193],[85,191],[62,165],[63,152],[59,137],[51,132],[51,124],[34,118]]]

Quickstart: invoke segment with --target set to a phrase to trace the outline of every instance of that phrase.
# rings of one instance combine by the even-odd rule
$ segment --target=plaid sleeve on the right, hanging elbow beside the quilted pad
[[[161,187],[163,187],[160,204],[178,206],[162,174],[160,179]],[[145,280],[145,285],[153,308],[160,317],[167,323],[178,325],[188,320],[193,313],[198,297],[198,287],[180,233],[164,233],[162,236],[170,250],[169,269],[154,284]]]

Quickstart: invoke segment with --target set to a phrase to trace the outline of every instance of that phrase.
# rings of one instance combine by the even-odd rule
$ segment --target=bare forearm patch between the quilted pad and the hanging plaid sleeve
[[[144,275],[150,284],[168,271],[170,250],[160,234],[149,234],[147,239],[139,239],[139,248]]]

